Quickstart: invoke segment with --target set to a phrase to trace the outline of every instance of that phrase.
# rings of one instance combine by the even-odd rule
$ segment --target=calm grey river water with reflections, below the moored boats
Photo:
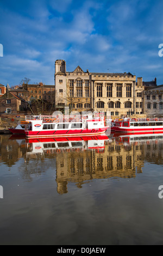
[[[1,245],[163,244],[163,135],[0,143]]]

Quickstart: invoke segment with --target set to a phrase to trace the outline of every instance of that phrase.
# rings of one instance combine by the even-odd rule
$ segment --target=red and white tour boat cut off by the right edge
[[[163,133],[163,118],[124,118],[115,121],[116,132]]]

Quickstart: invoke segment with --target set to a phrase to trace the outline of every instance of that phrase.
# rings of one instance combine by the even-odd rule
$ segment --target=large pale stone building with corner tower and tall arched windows
[[[110,111],[112,117],[142,114],[143,88],[142,81],[136,83],[130,72],[84,72],[80,66],[67,72],[65,60],[55,61],[55,101],[60,109]]]

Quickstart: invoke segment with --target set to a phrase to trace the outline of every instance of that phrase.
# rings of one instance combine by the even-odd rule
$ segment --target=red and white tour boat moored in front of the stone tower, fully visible
[[[95,136],[102,135],[109,126],[105,126],[105,118],[84,115],[81,118],[54,116],[26,116],[30,125],[25,126],[25,135],[31,138]]]

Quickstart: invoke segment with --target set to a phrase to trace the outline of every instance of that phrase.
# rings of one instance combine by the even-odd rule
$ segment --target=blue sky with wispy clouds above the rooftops
[[[162,0],[0,0],[0,83],[53,85],[64,59],[70,72],[79,65],[163,84],[162,10]]]

